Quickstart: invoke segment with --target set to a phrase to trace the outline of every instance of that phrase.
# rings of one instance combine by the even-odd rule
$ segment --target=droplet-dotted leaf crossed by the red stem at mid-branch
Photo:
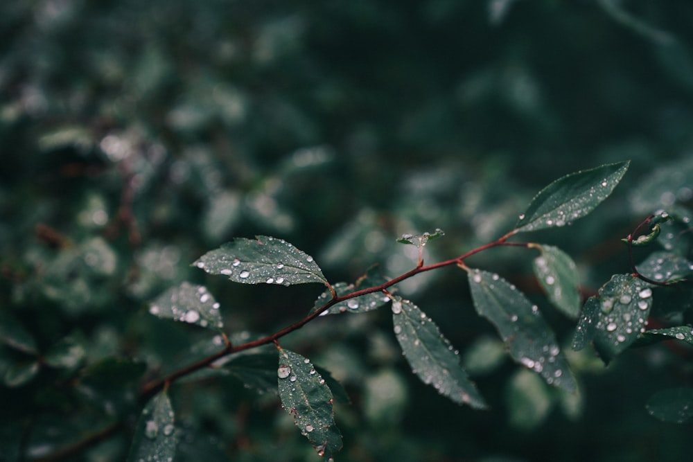
[[[387,282],[387,278],[384,278],[380,274],[380,269],[377,266],[373,266],[368,269],[368,272],[356,281],[356,284],[347,283],[336,283],[332,287],[337,292],[338,296],[344,296],[351,294],[351,292],[356,292],[357,290],[367,289],[369,287],[375,287]],[[313,310],[324,306],[328,301],[332,299],[332,292],[326,290],[315,301]],[[385,303],[389,302],[389,298],[383,294],[383,292],[373,292],[371,294],[365,294],[362,296],[354,297],[353,299],[348,299],[341,301],[340,303],[335,303],[332,305],[324,314],[340,314],[343,312],[349,313],[364,313],[368,311],[377,310]]]

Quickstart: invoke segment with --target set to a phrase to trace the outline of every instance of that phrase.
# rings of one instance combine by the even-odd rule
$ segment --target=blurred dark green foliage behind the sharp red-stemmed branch
[[[511,229],[553,179],[631,159],[593,215],[532,236],[577,260],[586,294],[629,272],[618,238],[693,195],[691,24],[685,1],[1,2],[0,337],[26,339],[0,350],[0,460],[130,415],[144,379],[195,358],[208,333],[148,315],[170,285],[207,285],[234,338],[303,317],[319,287],[189,266],[234,236],[284,238],[333,282],[373,263],[392,277],[416,260],[402,233],[440,227],[427,261],[452,258]],[[570,344],[534,256],[468,263],[514,281]],[[399,289],[462,351],[491,411],[419,383],[387,312],[282,342],[349,391],[340,460],[687,458],[690,427],[644,402],[690,382],[690,350],[633,350],[608,368],[574,353],[581,393],[561,396],[499,355],[465,281],[443,269]],[[104,370],[113,387],[96,383]],[[176,460],[318,459],[273,393],[231,376],[170,393]],[[70,460],[123,460],[130,431]]]

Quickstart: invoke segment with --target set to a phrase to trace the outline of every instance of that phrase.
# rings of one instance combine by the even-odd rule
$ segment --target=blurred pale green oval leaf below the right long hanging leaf
[[[546,384],[527,370],[515,373],[508,383],[506,400],[510,423],[520,429],[532,429],[540,425],[552,407]]]

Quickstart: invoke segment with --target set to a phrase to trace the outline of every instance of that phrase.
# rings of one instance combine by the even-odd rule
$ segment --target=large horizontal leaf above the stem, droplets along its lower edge
[[[244,284],[328,285],[322,270],[305,254],[283,239],[256,236],[237,238],[198,258],[193,265],[210,274],[229,276]]]

